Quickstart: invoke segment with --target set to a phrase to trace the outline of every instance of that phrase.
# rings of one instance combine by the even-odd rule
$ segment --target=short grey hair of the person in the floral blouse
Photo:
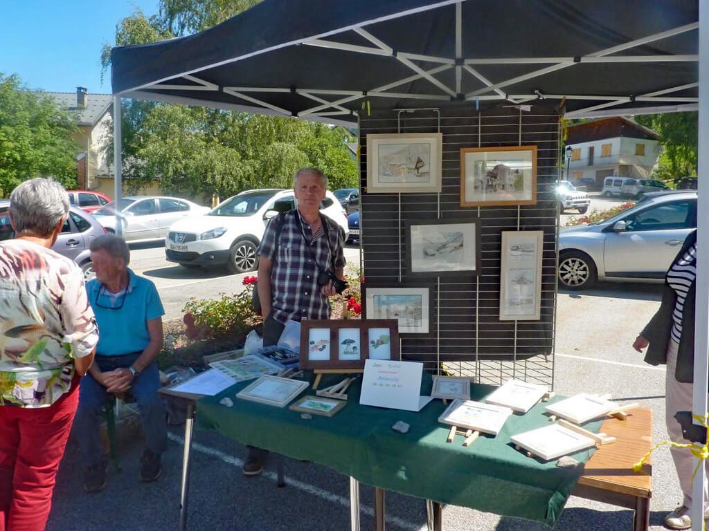
[[[17,185],[10,194],[10,214],[18,233],[48,236],[69,212],[67,190],[47,178],[34,178]]]

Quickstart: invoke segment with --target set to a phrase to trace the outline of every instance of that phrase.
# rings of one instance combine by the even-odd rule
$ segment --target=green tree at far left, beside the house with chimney
[[[76,118],[18,76],[0,73],[0,192],[3,196],[34,177],[77,186]]]

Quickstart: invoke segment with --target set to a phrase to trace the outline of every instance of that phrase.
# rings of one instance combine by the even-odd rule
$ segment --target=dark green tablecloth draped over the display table
[[[323,378],[320,389],[342,376]],[[420,498],[484,510],[498,515],[538,520],[554,525],[564,503],[581,476],[581,470],[556,467],[556,460],[540,462],[515,450],[510,435],[549,423],[545,404],[525,415],[514,414],[496,437],[481,435],[469,447],[457,435],[446,442],[450,426],[437,419],[445,406],[433,400],[420,412],[359,405],[361,379],[348,389],[347,406],[333,417],[301,413],[236,399],[251,382],[236,384],[216,396],[197,402],[197,422],[204,428],[244,444],[308,459],[341,474],[382,489]],[[422,394],[430,394],[431,378],[425,375]],[[494,387],[471,385],[471,399],[479,400]],[[306,389],[305,394],[315,394]],[[219,403],[233,400],[232,407]],[[560,399],[557,398],[557,400]],[[406,434],[391,429],[396,421],[411,425]],[[585,426],[598,431],[601,422]],[[586,462],[593,450],[573,457]]]

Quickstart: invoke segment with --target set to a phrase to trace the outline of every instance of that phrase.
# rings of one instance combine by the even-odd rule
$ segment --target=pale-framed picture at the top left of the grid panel
[[[440,193],[441,133],[367,135],[367,193]]]

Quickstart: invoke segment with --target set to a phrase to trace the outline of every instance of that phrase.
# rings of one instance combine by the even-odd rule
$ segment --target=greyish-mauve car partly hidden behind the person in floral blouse
[[[9,200],[0,200],[0,240],[15,237],[15,230],[10,224],[10,216],[7,212],[9,206]],[[106,229],[101,227],[94,216],[72,205],[69,207],[69,215],[64,222],[62,232],[52,245],[52,251],[71,258],[84,271],[84,278],[89,280],[95,276],[89,243],[101,234],[106,234]]]

